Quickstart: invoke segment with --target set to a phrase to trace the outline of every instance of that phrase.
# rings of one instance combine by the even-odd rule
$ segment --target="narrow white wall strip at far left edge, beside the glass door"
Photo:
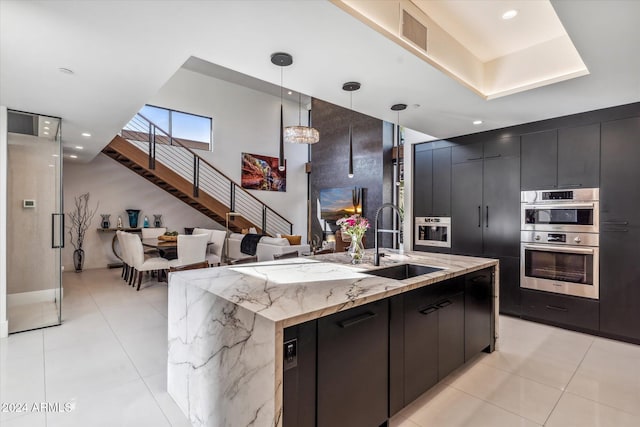
[[[7,107],[0,106],[0,338],[7,322]]]

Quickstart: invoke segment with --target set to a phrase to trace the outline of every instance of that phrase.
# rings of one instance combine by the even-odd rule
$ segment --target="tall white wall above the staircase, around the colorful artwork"
[[[213,150],[199,151],[213,166],[240,183],[241,153],[278,157],[280,98],[180,69],[147,104],[213,118]],[[303,112],[303,124],[307,114]],[[284,102],[284,125],[298,124],[298,102]],[[322,135],[320,135],[322,143]],[[287,191],[249,190],[293,223],[307,238],[308,147],[285,143]]]

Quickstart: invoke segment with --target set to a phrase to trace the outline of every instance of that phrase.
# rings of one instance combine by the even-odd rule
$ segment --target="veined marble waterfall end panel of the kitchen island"
[[[167,389],[194,426],[275,426],[275,324],[188,281],[169,286]],[[278,369],[280,368],[280,369]]]

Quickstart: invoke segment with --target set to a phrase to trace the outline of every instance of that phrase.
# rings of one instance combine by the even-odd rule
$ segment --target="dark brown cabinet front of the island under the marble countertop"
[[[283,426],[384,425],[477,352],[492,351],[493,274],[488,268],[286,328]]]

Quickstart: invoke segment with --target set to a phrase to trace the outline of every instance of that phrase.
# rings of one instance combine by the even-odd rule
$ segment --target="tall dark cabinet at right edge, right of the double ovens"
[[[640,340],[640,117],[602,123],[600,331]]]

